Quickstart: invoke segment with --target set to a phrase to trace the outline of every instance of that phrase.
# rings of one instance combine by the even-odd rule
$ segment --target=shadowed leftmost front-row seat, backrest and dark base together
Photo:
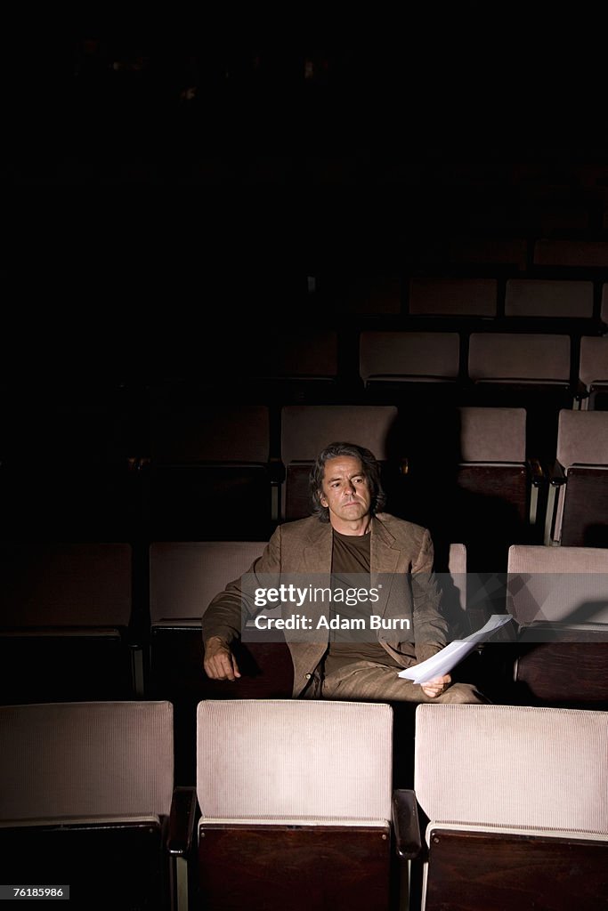
[[[78,911],[170,911],[172,721],[164,701],[0,707],[5,879],[68,887]]]

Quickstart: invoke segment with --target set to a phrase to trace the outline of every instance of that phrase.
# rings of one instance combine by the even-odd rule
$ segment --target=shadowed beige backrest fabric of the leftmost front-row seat
[[[170,813],[167,701],[0,707],[0,822]]]

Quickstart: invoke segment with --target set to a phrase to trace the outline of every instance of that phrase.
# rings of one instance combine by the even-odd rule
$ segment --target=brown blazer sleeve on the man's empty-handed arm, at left
[[[263,587],[272,585],[270,577],[278,578],[281,572],[281,527],[277,527],[263,549],[263,554],[254,560],[244,575],[228,582],[202,614],[202,640],[219,636],[227,645],[241,638],[242,624],[252,616],[252,589],[262,587],[258,579],[263,575]]]

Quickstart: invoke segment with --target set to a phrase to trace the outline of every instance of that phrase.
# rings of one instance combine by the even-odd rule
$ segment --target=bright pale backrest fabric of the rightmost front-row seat
[[[415,749],[431,823],[608,835],[608,712],[422,704]]]

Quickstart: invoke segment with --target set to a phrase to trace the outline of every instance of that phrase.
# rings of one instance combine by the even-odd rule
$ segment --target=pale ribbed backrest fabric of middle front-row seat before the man
[[[200,702],[203,822],[390,820],[392,723],[380,702]]]

